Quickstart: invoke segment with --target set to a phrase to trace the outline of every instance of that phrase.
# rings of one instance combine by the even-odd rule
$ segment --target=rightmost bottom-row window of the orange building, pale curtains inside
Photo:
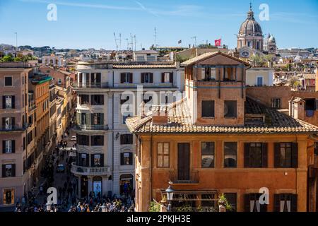
[[[297,194],[274,194],[275,212],[297,212]]]

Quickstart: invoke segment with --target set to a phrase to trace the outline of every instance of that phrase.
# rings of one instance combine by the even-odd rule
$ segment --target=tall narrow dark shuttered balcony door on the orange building
[[[190,144],[178,143],[178,180],[190,179]]]

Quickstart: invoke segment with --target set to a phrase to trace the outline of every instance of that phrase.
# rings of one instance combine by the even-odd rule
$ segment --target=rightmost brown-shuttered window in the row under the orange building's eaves
[[[274,152],[275,167],[298,167],[298,143],[274,143]]]

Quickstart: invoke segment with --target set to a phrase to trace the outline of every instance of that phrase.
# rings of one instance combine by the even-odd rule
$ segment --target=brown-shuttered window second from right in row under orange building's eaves
[[[267,143],[245,143],[244,165],[250,168],[266,168]]]

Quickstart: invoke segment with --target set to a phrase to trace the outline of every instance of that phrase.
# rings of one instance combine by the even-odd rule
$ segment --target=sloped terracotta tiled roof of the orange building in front
[[[276,109],[265,107],[247,97],[245,102],[247,114],[264,114],[266,119],[261,124],[244,126],[196,125],[185,101],[170,107],[167,124],[152,124],[152,116],[143,119],[139,116],[129,117],[126,124],[131,133],[318,133],[318,127],[305,121],[293,119]]]

